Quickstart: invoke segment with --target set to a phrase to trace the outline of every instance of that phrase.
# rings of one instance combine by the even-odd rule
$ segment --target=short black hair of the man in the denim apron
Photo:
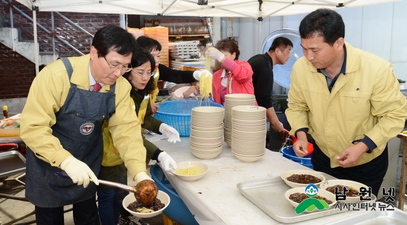
[[[98,50],[98,57],[106,56],[110,50],[128,56],[136,49],[137,41],[127,30],[109,24],[96,32],[92,46]]]

